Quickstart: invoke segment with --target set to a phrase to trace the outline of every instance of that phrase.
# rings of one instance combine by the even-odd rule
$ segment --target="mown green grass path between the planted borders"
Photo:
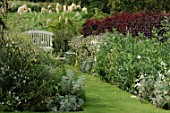
[[[82,74],[78,71],[76,73]],[[100,81],[98,77],[88,74],[85,77],[87,99],[84,111],[78,113],[170,113],[147,102],[141,103],[138,99],[131,98],[131,94]]]

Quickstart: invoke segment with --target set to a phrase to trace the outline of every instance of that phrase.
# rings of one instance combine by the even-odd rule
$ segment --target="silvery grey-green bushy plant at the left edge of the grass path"
[[[85,100],[84,77],[77,80],[71,70],[67,70],[67,76],[62,76],[59,82],[59,94],[49,98],[45,103],[49,111],[79,111]]]

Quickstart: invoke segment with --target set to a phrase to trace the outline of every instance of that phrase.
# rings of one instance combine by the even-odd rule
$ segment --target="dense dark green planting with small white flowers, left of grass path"
[[[52,111],[47,102],[61,96],[67,99],[66,95],[76,100],[69,110],[82,109],[83,79],[70,78],[72,73],[66,73],[62,62],[35,47],[23,34],[5,34],[0,38],[0,105],[4,111]],[[62,83],[67,77],[71,84]],[[74,90],[63,91],[63,87]],[[60,110],[62,102],[54,104]]]

